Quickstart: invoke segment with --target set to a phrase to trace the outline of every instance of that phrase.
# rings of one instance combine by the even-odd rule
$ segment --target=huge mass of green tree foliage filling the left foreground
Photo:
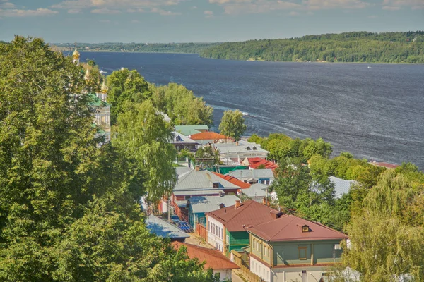
[[[42,39],[0,44],[0,280],[213,281],[143,223],[141,195],[175,179],[169,128],[134,103],[99,146],[83,76]]]

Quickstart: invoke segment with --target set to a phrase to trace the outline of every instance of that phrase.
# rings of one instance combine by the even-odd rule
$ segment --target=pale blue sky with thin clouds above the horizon
[[[424,30],[424,0],[0,0],[0,40],[232,42]]]

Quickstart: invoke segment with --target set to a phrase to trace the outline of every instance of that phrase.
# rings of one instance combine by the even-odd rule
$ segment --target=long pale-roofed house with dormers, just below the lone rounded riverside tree
[[[226,161],[234,161],[240,164],[243,159],[258,157],[266,159],[269,152],[261,148],[261,145],[240,140],[233,143],[215,143],[214,149],[218,149],[220,159]]]

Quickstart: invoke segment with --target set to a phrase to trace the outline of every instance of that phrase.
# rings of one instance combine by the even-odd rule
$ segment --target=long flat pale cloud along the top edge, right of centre
[[[225,13],[269,13],[271,11],[316,11],[324,9],[353,9],[370,6],[367,0],[209,0],[222,6]]]

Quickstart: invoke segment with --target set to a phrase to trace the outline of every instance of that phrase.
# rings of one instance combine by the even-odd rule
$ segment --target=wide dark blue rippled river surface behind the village
[[[196,54],[81,53],[107,71],[177,82],[223,111],[247,112],[246,135],[322,137],[334,154],[424,168],[424,65],[225,61]]]

